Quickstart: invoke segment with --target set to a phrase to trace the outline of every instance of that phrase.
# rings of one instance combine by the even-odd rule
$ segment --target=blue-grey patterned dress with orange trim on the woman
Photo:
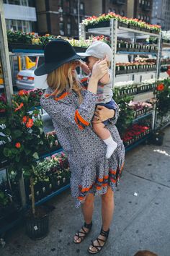
[[[75,198],[75,206],[79,208],[88,193],[103,195],[109,185],[115,192],[125,160],[125,148],[115,127],[115,117],[109,119],[107,129],[117,149],[112,156],[105,157],[107,146],[94,133],[91,119],[97,103],[97,95],[89,90],[82,90],[82,103],[74,93],[49,96],[53,90],[48,88],[40,100],[42,108],[50,115],[58,140],[68,155],[71,171],[71,195]]]

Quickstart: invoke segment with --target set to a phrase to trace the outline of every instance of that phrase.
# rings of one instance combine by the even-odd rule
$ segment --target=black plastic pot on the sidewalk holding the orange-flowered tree
[[[26,233],[30,239],[37,240],[42,239],[47,236],[49,231],[49,216],[45,214],[45,216],[39,218],[26,218]]]

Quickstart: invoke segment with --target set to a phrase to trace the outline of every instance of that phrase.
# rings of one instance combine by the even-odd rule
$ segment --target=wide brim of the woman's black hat
[[[53,72],[55,69],[58,69],[58,67],[61,67],[63,64],[68,63],[70,61],[74,61],[76,59],[81,59],[81,56],[78,54],[75,54],[74,56],[71,56],[68,59],[64,59],[60,62],[52,62],[52,63],[43,63],[40,65],[40,67],[37,67],[35,69],[35,75],[40,76],[43,74],[50,74],[50,72]]]

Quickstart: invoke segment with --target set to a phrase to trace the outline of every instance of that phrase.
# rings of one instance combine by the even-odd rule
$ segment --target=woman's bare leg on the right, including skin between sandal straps
[[[104,231],[109,230],[109,226],[112,222],[112,216],[115,209],[115,202],[114,202],[114,192],[112,191],[112,188],[108,186],[107,193],[102,195],[102,229]],[[105,236],[102,236],[99,234],[99,239],[106,240]],[[100,245],[103,246],[104,242],[97,240],[94,241],[94,245]],[[98,247],[99,248],[99,247]],[[90,245],[89,249],[93,252],[97,252],[97,248]],[[100,249],[100,248],[99,248]]]

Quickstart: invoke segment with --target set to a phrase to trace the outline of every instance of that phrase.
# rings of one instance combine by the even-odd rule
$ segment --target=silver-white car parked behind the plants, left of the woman
[[[17,74],[16,85],[19,90],[32,90],[36,88],[45,89],[48,88],[48,84],[46,82],[47,75],[42,75],[37,77],[34,74],[34,71],[43,61],[43,57],[37,59],[37,64],[35,67],[30,69],[23,69]]]

